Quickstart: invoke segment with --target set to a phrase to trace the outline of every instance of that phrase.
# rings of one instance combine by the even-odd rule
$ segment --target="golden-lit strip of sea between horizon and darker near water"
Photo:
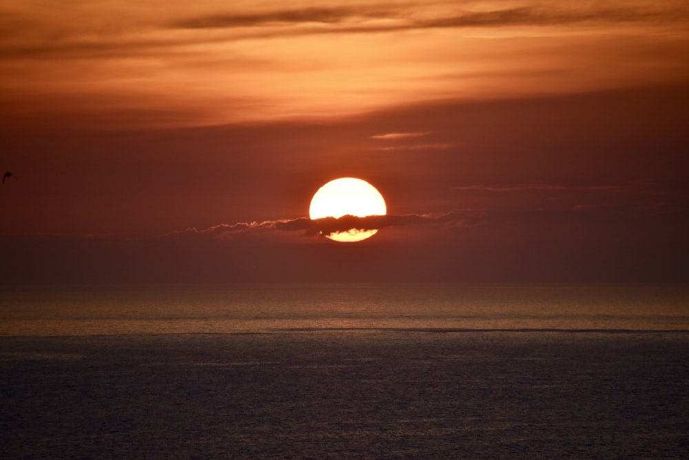
[[[0,292],[0,335],[689,331],[689,284],[674,283],[44,285]]]

